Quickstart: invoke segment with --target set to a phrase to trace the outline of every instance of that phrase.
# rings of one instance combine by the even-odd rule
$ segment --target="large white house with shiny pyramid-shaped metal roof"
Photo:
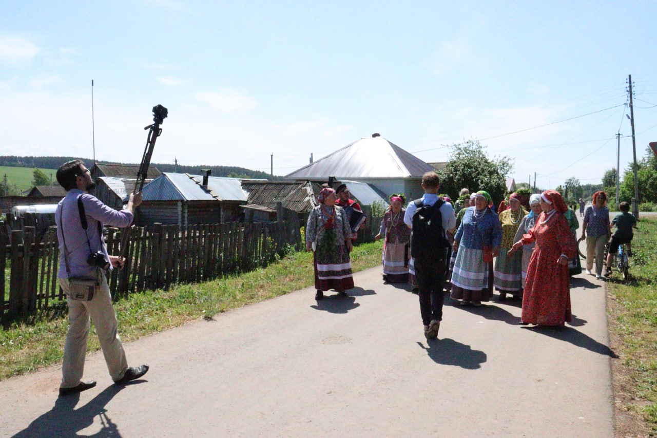
[[[407,199],[419,198],[422,175],[435,169],[388,141],[379,134],[361,138],[334,153],[311,162],[286,178],[318,180],[334,176],[373,185],[386,196],[405,193]]]

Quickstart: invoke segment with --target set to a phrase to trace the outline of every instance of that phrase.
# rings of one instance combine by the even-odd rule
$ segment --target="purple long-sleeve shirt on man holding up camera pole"
[[[87,231],[82,228],[78,210],[78,196],[82,195],[82,204],[84,205],[85,215],[87,216]],[[63,208],[63,210],[62,210]],[[61,221],[60,221],[61,212]],[[57,224],[57,239],[59,241],[59,272],[58,278],[68,278],[66,274],[66,264],[64,263],[64,241],[62,231],[66,237],[66,249],[68,249],[68,266],[72,277],[91,276],[95,268],[87,264],[89,257],[89,245],[91,252],[102,251],[106,257],[107,245],[102,234],[98,235],[98,222],[101,222],[101,229],[104,224],[115,227],[127,227],[133,220],[133,214],[129,210],[117,211],[104,205],[99,199],[89,193],[71,189],[66,193],[55,210],[55,223]],[[64,225],[62,227],[62,222]],[[87,237],[89,245],[87,245]],[[110,268],[111,269],[111,268]]]

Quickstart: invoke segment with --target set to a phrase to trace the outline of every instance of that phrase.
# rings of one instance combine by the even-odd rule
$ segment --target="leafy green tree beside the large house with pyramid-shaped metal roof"
[[[510,157],[488,158],[486,147],[478,140],[451,145],[449,160],[440,170],[440,191],[457,199],[463,187],[470,193],[486,190],[495,204],[499,204],[507,193],[506,176],[513,169]]]

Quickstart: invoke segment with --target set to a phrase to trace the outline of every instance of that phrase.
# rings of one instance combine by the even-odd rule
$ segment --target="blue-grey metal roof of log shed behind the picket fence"
[[[200,175],[164,172],[144,186],[144,201],[242,201],[247,195],[239,178],[210,176],[208,188],[202,187]]]

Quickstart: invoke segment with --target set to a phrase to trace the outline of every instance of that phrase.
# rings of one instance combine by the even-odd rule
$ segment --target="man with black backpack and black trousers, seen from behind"
[[[419,287],[420,314],[426,339],[436,339],[443,318],[443,283],[447,264],[446,230],[456,226],[454,209],[438,197],[440,178],[435,172],[422,176],[422,198],[406,208],[404,223],[411,228],[411,256]]]

